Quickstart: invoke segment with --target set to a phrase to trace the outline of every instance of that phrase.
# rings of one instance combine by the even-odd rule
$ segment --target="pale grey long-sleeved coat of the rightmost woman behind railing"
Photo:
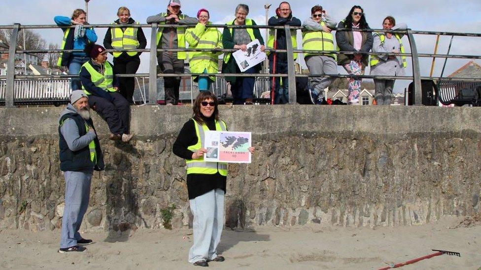
[[[397,24],[392,30],[406,30],[406,24]],[[403,35],[401,35],[402,37]],[[398,39],[393,35],[391,38],[381,39],[378,34],[374,34],[373,52],[375,53],[392,53],[394,50],[401,51],[401,45]],[[404,76],[405,71],[402,66],[401,57],[389,59],[389,56],[378,56],[379,62],[377,65],[371,67],[371,75],[378,76]]]

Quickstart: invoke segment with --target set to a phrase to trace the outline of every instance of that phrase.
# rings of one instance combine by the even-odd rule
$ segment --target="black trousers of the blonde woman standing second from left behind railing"
[[[129,60],[117,60],[113,59],[113,70],[115,74],[135,74],[137,73],[138,66],[140,65],[140,58],[131,58]],[[134,89],[135,78],[134,77],[118,77],[119,79],[119,92],[127,101],[134,103]]]

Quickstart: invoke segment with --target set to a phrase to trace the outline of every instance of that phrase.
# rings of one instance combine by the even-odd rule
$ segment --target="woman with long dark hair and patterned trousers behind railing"
[[[365,16],[362,7],[355,5],[345,19],[339,23],[338,28],[369,29]],[[355,30],[337,30],[336,42],[340,51],[367,53],[373,47],[373,34]],[[368,63],[369,55],[366,54],[340,54],[338,56],[338,65],[342,65],[349,75],[364,75],[364,69]],[[347,80],[349,82],[347,104],[359,105],[362,79],[351,77]]]

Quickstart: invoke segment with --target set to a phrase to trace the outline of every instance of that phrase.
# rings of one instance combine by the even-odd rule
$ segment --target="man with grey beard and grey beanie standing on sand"
[[[78,233],[89,205],[92,174],[94,170],[104,169],[99,139],[90,118],[88,96],[82,90],[70,94],[70,103],[60,114],[59,136],[60,170],[65,176],[59,252],[82,252],[86,248],[80,245],[93,243]]]

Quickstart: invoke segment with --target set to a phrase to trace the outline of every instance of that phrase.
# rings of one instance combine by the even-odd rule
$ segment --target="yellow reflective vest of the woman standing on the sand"
[[[204,140],[206,138],[205,132],[208,131],[209,128],[205,124],[201,125],[196,120],[192,120],[194,121],[196,130],[197,144],[189,146],[187,149],[194,152],[200,148],[206,148],[204,146]],[[227,131],[227,125],[222,120],[215,121],[215,130]],[[199,159],[187,159],[185,163],[187,167],[187,174],[213,175],[219,172],[220,175],[227,176],[227,163],[225,162],[206,162],[202,156]]]

